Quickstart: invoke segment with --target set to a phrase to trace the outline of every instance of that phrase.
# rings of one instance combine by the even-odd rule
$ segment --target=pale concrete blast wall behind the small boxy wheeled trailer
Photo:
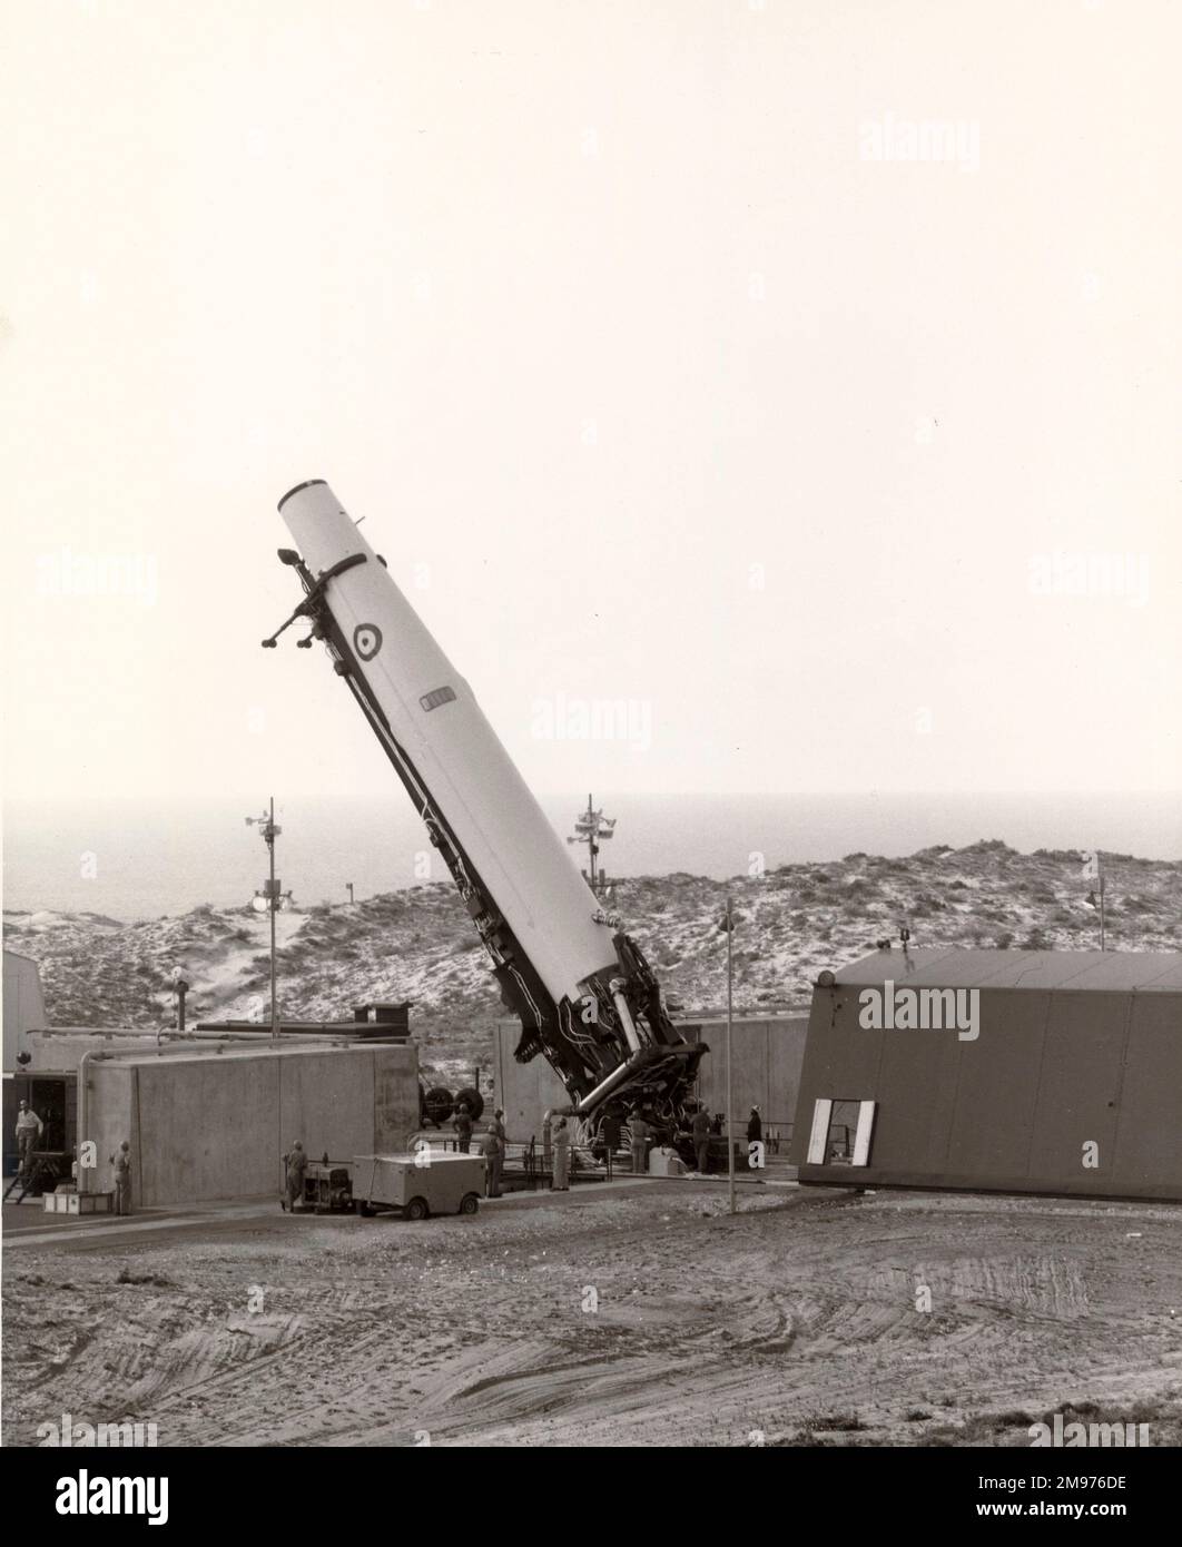
[[[97,1060],[88,1071],[96,1185],[132,1143],[138,1205],[278,1194],[294,1140],[319,1159],[405,1149],[418,1126],[418,1049],[251,1049]]]

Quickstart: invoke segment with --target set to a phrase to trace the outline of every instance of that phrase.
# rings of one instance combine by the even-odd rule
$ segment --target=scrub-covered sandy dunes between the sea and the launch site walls
[[[1182,862],[1106,855],[1112,950],[1182,948]],[[741,1012],[803,1009],[823,967],[911,930],[913,945],[1094,950],[1098,914],[1080,855],[1020,854],[992,840],[905,859],[848,854],[729,882],[675,873],[619,880],[610,900],[687,1013],[718,1009],[727,894],[738,919]],[[266,1015],[268,920],[249,908],[193,908],[121,922],[94,913],[9,913],[6,944],[42,964],[56,1026],[170,1024],[170,973],[192,984],[190,1019]],[[472,920],[450,882],[278,916],[280,999],[299,1019],[348,1018],[354,1004],[412,1001],[424,1061],[481,1061],[501,1013]]]

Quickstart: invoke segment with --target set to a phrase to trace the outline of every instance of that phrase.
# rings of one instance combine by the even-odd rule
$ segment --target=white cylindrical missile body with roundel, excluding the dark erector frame
[[[529,954],[554,1001],[577,999],[616,967],[611,930],[565,843],[497,732],[360,528],[326,483],[292,490],[280,514],[316,575],[365,557],[333,582],[333,616],[362,662],[398,744]],[[514,863],[515,860],[521,863]]]

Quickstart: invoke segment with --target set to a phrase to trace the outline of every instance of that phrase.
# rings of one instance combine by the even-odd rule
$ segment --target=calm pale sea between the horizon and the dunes
[[[263,797],[200,801],[8,801],[3,808],[6,910],[150,919],[201,903],[246,905],[266,876]],[[541,806],[574,834],[579,795]],[[616,820],[599,862],[608,877],[688,873],[724,880],[760,868],[848,854],[899,857],[947,843],[999,838],[1015,849],[1100,849],[1182,859],[1176,794],[613,795]],[[277,873],[292,903],[347,902],[446,880],[410,803],[391,797],[277,800]],[[586,849],[572,846],[586,863]]]

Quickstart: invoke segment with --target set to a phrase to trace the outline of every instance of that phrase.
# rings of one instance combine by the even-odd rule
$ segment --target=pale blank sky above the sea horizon
[[[317,476],[538,791],[1182,787],[1177,6],[5,9],[11,795],[390,789]]]

